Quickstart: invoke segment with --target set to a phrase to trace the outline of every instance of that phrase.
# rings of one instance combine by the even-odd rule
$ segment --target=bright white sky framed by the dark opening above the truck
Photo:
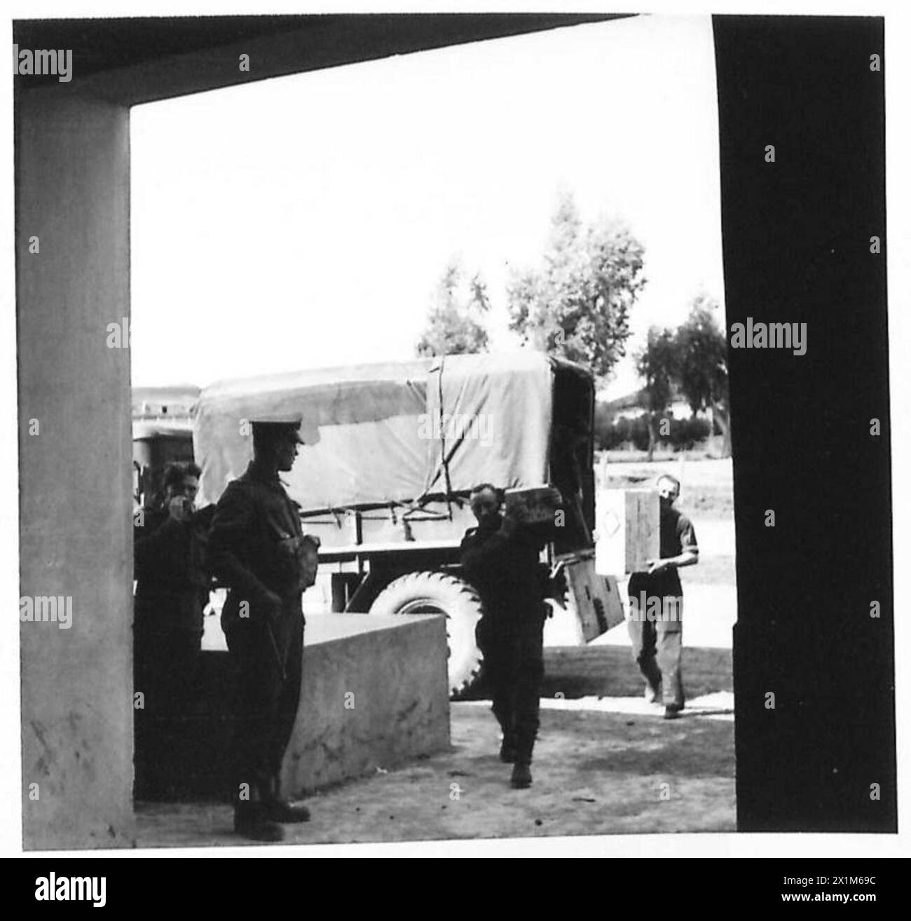
[[[700,289],[723,304],[709,17],[138,106],[131,146],[135,385],[413,357],[452,256],[485,275],[494,347],[518,347],[509,269],[539,259],[561,189],[645,244],[629,353]],[[638,386],[627,359],[609,393]]]

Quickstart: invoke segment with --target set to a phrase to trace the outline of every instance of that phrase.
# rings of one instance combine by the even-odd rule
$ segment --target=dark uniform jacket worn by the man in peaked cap
[[[287,616],[303,616],[300,595],[305,586],[298,558],[287,543],[300,537],[298,507],[278,475],[251,461],[246,472],[228,484],[209,531],[213,571],[230,589],[222,611],[226,629],[240,616],[240,601],[249,603],[255,619],[268,592],[282,600]]]

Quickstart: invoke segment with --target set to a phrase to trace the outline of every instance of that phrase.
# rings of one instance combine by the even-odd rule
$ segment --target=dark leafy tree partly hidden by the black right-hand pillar
[[[693,298],[686,322],[677,330],[681,390],[695,415],[710,409],[722,434],[722,453],[730,457],[728,341],[718,329],[718,302],[707,294]]]

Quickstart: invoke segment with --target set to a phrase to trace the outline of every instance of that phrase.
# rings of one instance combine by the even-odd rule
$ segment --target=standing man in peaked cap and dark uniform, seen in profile
[[[236,682],[234,828],[258,841],[281,841],[282,822],[310,819],[282,798],[279,780],[300,697],[301,594],[319,547],[278,478],[305,443],[300,426],[299,415],[251,420],[253,460],[228,484],[209,533],[212,568],[229,588],[221,624]]]

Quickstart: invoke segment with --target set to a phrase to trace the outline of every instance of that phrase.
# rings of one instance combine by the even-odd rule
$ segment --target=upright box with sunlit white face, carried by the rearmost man
[[[595,497],[595,569],[624,576],[648,568],[660,555],[660,504],[656,489],[602,489]]]

